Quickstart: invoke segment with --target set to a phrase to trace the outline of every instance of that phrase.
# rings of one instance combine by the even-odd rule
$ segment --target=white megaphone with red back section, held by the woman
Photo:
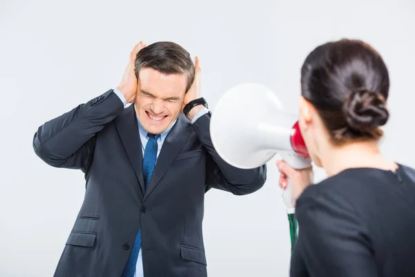
[[[297,121],[267,87],[239,84],[216,104],[210,136],[219,156],[236,168],[262,166],[277,153],[295,169],[308,168],[311,159]],[[283,199],[287,212],[294,213],[289,180]]]

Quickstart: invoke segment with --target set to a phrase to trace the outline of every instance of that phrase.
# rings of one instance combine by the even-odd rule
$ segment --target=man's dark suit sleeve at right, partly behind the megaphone
[[[230,166],[219,157],[210,139],[210,112],[198,118],[193,129],[210,154],[206,161],[206,190],[218,188],[234,195],[246,195],[264,186],[266,165],[243,170]]]

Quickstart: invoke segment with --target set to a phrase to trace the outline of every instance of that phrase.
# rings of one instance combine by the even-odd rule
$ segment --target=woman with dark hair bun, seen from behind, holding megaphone
[[[309,186],[312,168],[277,162],[299,224],[291,276],[415,276],[415,170],[378,148],[389,118],[385,62],[342,39],[315,48],[301,75],[299,129],[328,177]]]

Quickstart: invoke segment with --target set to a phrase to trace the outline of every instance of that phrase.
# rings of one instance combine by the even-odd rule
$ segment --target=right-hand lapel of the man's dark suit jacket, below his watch
[[[192,133],[192,125],[188,122],[183,114],[177,118],[176,124],[172,127],[165,138],[160,154],[157,158],[156,168],[154,168],[150,183],[144,195],[144,200],[156,188],[160,180],[167,172],[169,166],[173,163],[178,153],[183,149],[187,139]],[[143,200],[143,201],[144,201]]]

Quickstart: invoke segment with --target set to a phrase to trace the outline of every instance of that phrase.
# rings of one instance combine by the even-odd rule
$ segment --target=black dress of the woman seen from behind
[[[353,168],[297,200],[291,277],[415,277],[415,170]]]

